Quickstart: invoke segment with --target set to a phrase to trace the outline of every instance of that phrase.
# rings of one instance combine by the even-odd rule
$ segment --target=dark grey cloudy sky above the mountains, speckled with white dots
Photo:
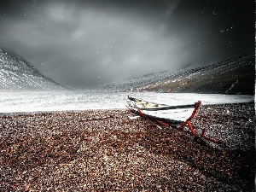
[[[0,0],[0,48],[76,88],[254,51],[254,0]]]

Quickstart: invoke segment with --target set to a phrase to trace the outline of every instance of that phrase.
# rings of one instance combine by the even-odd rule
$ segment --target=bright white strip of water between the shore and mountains
[[[127,93],[100,90],[0,92],[0,113],[125,108],[127,96],[168,105],[251,102],[253,96],[192,93]]]

